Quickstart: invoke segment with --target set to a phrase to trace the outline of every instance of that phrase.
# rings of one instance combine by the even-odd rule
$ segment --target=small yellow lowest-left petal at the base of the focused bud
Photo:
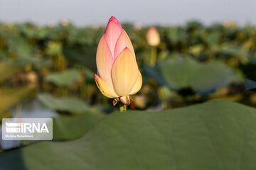
[[[100,77],[98,77],[96,74],[95,74],[95,81],[96,81],[97,87],[100,89],[100,91],[104,96],[108,98],[118,97],[117,94],[114,92],[114,89],[110,85],[108,85],[104,80],[100,79]]]

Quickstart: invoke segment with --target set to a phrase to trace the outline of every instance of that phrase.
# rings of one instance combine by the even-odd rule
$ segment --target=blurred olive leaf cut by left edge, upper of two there
[[[7,79],[11,79],[18,72],[21,72],[22,68],[13,64],[0,64],[0,83],[6,81]]]

